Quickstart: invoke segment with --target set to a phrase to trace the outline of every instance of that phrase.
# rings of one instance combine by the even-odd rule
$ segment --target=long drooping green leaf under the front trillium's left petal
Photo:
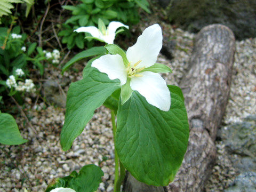
[[[62,127],[60,143],[63,150],[70,149],[74,139],[82,133],[94,110],[117,89],[119,80],[110,80],[107,74],[91,67],[81,81],[71,83],[67,94],[67,111]]]

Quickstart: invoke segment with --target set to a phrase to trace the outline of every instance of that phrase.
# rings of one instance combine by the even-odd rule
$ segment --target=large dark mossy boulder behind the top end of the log
[[[256,36],[255,0],[173,0],[167,14],[172,24],[193,33],[220,23],[233,30],[237,39]]]

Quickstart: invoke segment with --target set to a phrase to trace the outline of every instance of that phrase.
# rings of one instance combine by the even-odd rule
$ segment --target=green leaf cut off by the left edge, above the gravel
[[[20,145],[27,141],[21,137],[18,125],[13,116],[0,113],[0,143],[4,145]]]

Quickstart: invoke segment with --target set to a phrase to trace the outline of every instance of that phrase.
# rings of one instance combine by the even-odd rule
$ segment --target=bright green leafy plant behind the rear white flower
[[[63,30],[59,35],[62,43],[66,43],[68,49],[75,45],[79,49],[84,48],[84,33],[73,33],[78,27],[98,26],[99,18],[105,25],[109,21],[121,21],[129,25],[139,22],[138,7],[140,6],[147,12],[147,0],[80,0],[82,3],[76,6],[65,5],[64,9],[72,11],[72,17],[62,25]],[[119,31],[118,31],[119,33]]]

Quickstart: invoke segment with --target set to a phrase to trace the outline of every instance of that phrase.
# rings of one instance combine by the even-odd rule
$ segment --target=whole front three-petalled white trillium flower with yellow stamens
[[[171,106],[171,95],[166,82],[158,73],[144,70],[156,63],[162,44],[161,27],[155,24],[146,28],[138,37],[137,43],[127,50],[127,66],[120,55],[107,54],[94,60],[92,67],[106,73],[110,79],[118,78],[121,85],[130,82],[131,89],[138,91],[148,103],[168,111]]]

